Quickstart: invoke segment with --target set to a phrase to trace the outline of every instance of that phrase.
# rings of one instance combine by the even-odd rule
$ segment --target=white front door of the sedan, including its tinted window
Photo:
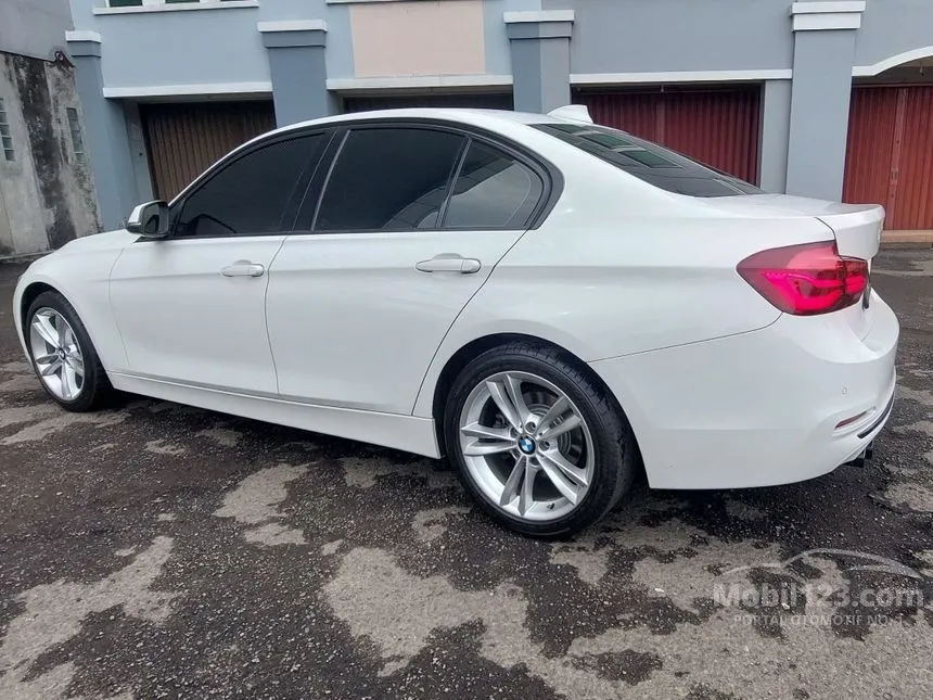
[[[269,269],[325,138],[247,147],[172,203],[167,240],[127,246],[111,272],[111,303],[131,373],[277,393]]]

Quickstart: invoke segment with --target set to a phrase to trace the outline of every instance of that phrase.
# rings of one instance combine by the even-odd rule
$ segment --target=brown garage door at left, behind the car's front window
[[[170,200],[234,148],[276,128],[271,102],[142,104],[155,195]]]

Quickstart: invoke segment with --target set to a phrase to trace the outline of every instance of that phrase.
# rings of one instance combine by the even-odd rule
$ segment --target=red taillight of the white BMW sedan
[[[868,263],[840,257],[832,241],[762,251],[739,263],[737,269],[762,296],[795,316],[851,306],[868,282]]]

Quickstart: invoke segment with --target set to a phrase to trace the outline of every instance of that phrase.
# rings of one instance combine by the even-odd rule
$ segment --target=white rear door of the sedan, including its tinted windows
[[[427,124],[342,135],[272,266],[283,396],[411,413],[453,319],[539,211],[539,166]]]

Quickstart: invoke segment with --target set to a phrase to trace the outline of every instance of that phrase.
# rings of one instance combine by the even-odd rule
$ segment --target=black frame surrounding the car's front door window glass
[[[204,188],[210,180],[217,177],[220,173],[226,170],[229,166],[235,164],[238,161],[251,155],[261,149],[266,149],[278,143],[283,143],[286,141],[295,141],[298,139],[307,138],[310,136],[321,135],[324,137],[323,149],[321,149],[320,155],[318,156],[317,163],[312,163],[314,158],[309,158],[302,168],[302,173],[298,176],[298,181],[295,183],[295,188],[293,189],[291,195],[285,201],[285,206],[282,209],[281,218],[279,219],[279,230],[270,231],[266,233],[247,233],[243,236],[232,234],[232,236],[178,236],[178,218],[181,215],[181,212],[184,209],[184,205],[188,200],[195,193],[197,193],[202,188]],[[228,240],[228,239],[237,239],[237,238],[266,238],[269,236],[289,236],[295,227],[295,221],[298,216],[298,212],[304,202],[304,196],[307,193],[307,187],[303,187],[305,184],[306,177],[310,177],[314,179],[318,169],[320,168],[321,163],[324,162],[324,157],[328,154],[328,151],[331,147],[331,142],[334,137],[334,129],[321,126],[317,128],[308,128],[308,129],[296,129],[294,131],[285,131],[282,133],[276,133],[269,137],[259,137],[259,140],[250,141],[244,145],[241,145],[237,149],[233,149],[230,153],[225,155],[222,158],[217,161],[214,165],[207,168],[204,173],[197,176],[187,188],[184,188],[178,195],[171,201],[168,205],[168,217],[169,217],[169,230],[168,236],[165,240],[177,240],[177,241],[194,241],[194,240],[204,240],[204,239],[218,239],[218,240]],[[311,167],[314,165],[314,167]],[[309,175],[310,174],[310,175]],[[145,240],[145,239],[140,239]],[[155,241],[154,241],[155,242]]]

